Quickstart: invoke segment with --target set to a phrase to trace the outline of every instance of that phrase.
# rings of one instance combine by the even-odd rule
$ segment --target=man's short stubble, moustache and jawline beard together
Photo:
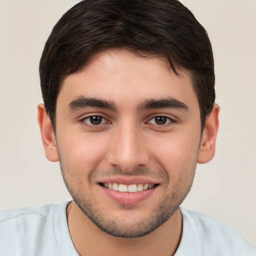
[[[107,234],[123,238],[144,236],[155,230],[158,226],[170,218],[173,212],[182,203],[191,188],[197,158],[196,153],[196,157],[190,168],[184,169],[180,172],[179,178],[174,184],[172,184],[171,191],[163,196],[161,201],[155,205],[153,210],[150,211],[149,215],[142,218],[135,218],[132,224],[129,224],[125,223],[125,221],[123,221],[121,218],[104,214],[104,211],[102,208],[100,208],[100,202],[95,199],[96,197],[93,196],[93,193],[90,195],[82,194],[81,189],[79,189],[79,186],[77,185],[80,183],[80,181],[76,180],[73,171],[68,164],[64,162],[59,151],[58,154],[63,180],[74,202],[79,206],[81,211],[102,231],[106,232]],[[163,180],[165,182],[163,182],[165,189],[167,189],[169,183],[169,176],[167,172],[164,169],[154,171],[145,167],[137,167],[129,173],[114,167],[108,170],[94,169],[90,172],[88,181],[90,183],[95,176],[99,177],[100,175],[145,176],[149,173],[150,176],[158,177]],[[125,209],[127,212],[133,207],[133,205],[120,205],[120,208]]]

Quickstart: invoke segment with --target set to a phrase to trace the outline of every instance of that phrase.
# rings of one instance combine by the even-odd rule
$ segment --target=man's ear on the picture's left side
[[[37,120],[40,126],[45,155],[48,160],[56,162],[58,161],[56,139],[50,118],[46,113],[44,104],[39,104],[37,106],[37,111]]]

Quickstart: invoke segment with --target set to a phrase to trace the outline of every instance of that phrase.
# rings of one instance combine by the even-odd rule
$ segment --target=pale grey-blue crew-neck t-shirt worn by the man
[[[0,211],[0,256],[78,256],[68,232],[66,206]],[[182,237],[174,256],[255,256],[232,227],[196,211],[180,208]]]

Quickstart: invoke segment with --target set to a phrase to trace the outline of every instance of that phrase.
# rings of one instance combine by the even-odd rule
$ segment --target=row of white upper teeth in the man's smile
[[[107,187],[109,189],[113,189],[115,191],[120,191],[120,192],[139,192],[139,191],[143,191],[143,190],[147,190],[150,189],[154,186],[154,184],[130,184],[130,185],[125,185],[125,184],[117,184],[117,183],[103,183],[104,187]]]

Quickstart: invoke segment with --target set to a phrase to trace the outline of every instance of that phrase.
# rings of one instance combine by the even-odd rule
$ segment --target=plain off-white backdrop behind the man
[[[0,0],[0,208],[70,196],[45,156],[36,119],[38,62],[55,22],[75,0]],[[197,165],[183,207],[237,229],[256,247],[256,1],[182,0],[208,31],[220,128],[212,161]]]

